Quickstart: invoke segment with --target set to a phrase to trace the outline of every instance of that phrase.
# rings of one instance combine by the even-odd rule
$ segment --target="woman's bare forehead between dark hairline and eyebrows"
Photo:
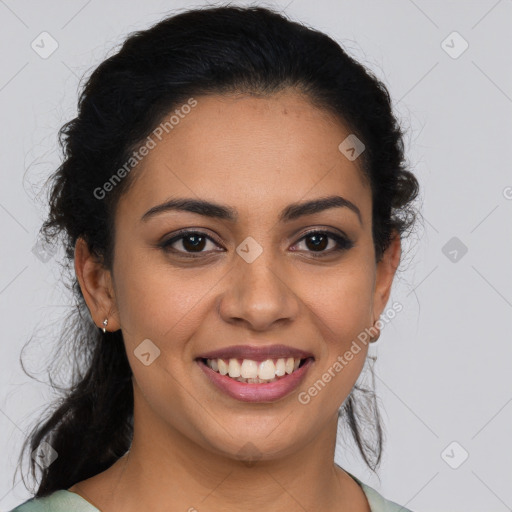
[[[154,147],[132,171],[136,180],[120,200],[123,216],[140,218],[174,195],[229,203],[241,212],[272,205],[280,210],[336,193],[368,207],[359,163],[338,149],[350,131],[305,97],[282,92],[194,99],[191,108],[175,107],[167,130],[151,135]]]

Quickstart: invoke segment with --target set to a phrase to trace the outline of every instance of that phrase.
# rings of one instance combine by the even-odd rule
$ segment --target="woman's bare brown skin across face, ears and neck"
[[[70,490],[103,512],[140,511],[140,504],[155,511],[368,512],[362,489],[334,464],[337,411],[368,346],[361,344],[309,404],[297,393],[379,318],[400,239],[375,262],[371,191],[357,159],[338,150],[350,133],[340,121],[291,90],[196,99],[132,171],[137,179],[116,211],[113,271],[82,239],[76,245],[75,270],[92,318],[102,326],[108,317],[108,330],[123,332],[134,374],[134,438],[113,466]],[[356,204],[362,223],[346,207],[278,222],[290,203],[333,194]],[[226,204],[239,219],[173,211],[140,220],[171,197]],[[214,241],[193,260],[158,247],[182,228]],[[303,235],[316,228],[341,230],[354,246],[329,254],[336,242],[328,239],[315,252]],[[235,251],[248,236],[263,248],[250,264]],[[193,251],[183,242],[174,243],[176,251]],[[326,255],[315,259],[318,251]],[[161,353],[145,366],[134,350],[148,338]],[[249,343],[308,350],[315,362],[287,397],[241,402],[212,386],[194,359]],[[248,440],[254,464],[240,460]]]

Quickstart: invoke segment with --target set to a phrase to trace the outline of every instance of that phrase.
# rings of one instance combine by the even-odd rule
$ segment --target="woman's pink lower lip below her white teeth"
[[[285,397],[300,385],[310,366],[313,364],[313,358],[308,358],[304,364],[293,373],[266,384],[238,382],[227,375],[221,375],[213,371],[201,359],[196,359],[196,362],[210,382],[231,398],[242,402],[273,402]]]

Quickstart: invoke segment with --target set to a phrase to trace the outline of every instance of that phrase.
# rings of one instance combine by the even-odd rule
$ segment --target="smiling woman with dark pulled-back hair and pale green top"
[[[380,462],[356,381],[418,192],[385,86],[277,12],[196,9],[131,35],[61,132],[42,231],[81,373],[14,510],[406,511],[334,463],[339,417]]]

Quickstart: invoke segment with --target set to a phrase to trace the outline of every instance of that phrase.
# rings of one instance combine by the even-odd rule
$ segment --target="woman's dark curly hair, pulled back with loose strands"
[[[191,96],[271,95],[287,88],[303,93],[363,141],[361,169],[372,191],[376,261],[396,233],[405,236],[413,225],[419,187],[405,164],[404,132],[390,95],[326,34],[268,8],[234,6],[186,10],[130,34],[81,89],[77,116],[59,131],[62,163],[48,181],[50,210],[40,234],[46,244],[65,249],[66,286],[75,304],[59,341],[73,349],[73,372],[70,385],[21,450],[20,463],[27,447],[33,453],[43,441],[58,454],[42,469],[36,497],[106,470],[129,450],[133,437],[132,372],[122,330],[102,334],[95,326],[73,262],[81,237],[112,269],[116,205],[137,170],[102,200],[93,191],[165,115]],[[383,433],[374,392],[356,384],[339,416],[345,417],[365,463],[375,471]],[[363,432],[367,425],[374,432],[368,439]],[[34,458],[30,464],[36,478]]]

